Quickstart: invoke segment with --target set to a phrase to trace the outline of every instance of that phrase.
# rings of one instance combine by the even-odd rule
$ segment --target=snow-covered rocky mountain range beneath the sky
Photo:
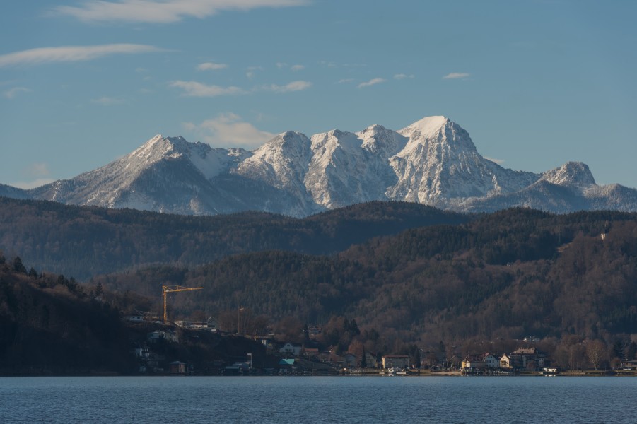
[[[97,170],[31,190],[0,185],[0,195],[195,215],[307,216],[372,200],[472,212],[637,211],[636,189],[598,186],[583,163],[542,174],[505,169],[483,158],[467,131],[446,117],[399,131],[373,125],[309,139],[287,131],[252,152],[158,135]]]

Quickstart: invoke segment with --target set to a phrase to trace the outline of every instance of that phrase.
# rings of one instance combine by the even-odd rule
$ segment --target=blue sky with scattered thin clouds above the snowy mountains
[[[637,187],[637,1],[29,0],[0,4],[0,184],[37,187],[156,134],[445,115],[486,158]]]

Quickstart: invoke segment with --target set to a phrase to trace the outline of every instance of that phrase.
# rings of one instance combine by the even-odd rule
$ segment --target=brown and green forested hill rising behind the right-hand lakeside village
[[[602,239],[602,233],[604,238]],[[158,298],[202,286],[175,314],[239,307],[273,322],[356,319],[388,340],[637,334],[637,215],[511,209],[464,225],[379,237],[335,256],[255,252],[192,271],[164,266],[96,279]]]

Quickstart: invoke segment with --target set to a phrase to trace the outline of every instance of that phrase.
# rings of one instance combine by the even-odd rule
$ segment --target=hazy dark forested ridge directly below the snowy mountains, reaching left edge
[[[372,237],[469,216],[407,202],[372,202],[304,219],[269,213],[179,216],[0,197],[0,249],[35,269],[85,280],[148,264],[194,266],[279,249],[333,254]]]

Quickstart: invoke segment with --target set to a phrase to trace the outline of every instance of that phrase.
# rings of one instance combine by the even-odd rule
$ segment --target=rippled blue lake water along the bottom
[[[631,377],[0,377],[0,423],[637,423]]]

